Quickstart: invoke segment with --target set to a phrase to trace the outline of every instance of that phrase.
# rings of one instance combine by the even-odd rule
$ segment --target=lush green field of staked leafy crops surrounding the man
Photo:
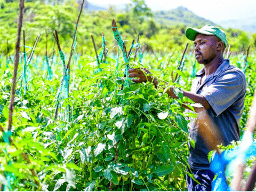
[[[96,52],[92,48],[83,54],[76,51],[80,42],[75,31],[74,44],[70,44],[73,57],[61,50],[63,43],[55,31],[48,31],[47,36],[54,36],[57,43],[44,44],[45,55],[31,54],[37,47],[31,42],[23,46],[21,37],[11,135],[0,132],[2,190],[187,190],[188,142],[193,146],[194,141],[186,117],[196,115],[183,113],[182,103],[193,101],[183,97],[181,89],[190,90],[202,65],[196,62],[191,46],[184,57],[176,51],[186,44],[150,52],[143,50],[144,39],[138,38],[137,43],[136,39],[125,41],[126,52],[120,39],[118,45],[109,47],[108,39],[118,37],[114,29],[122,28],[113,26],[110,22],[113,36],[97,37],[95,43],[100,41],[102,46],[95,47]],[[251,47],[247,52],[229,57],[247,81],[241,135],[256,87],[256,51]],[[127,78],[131,67],[149,69],[158,79],[158,88],[149,82],[133,83]],[[14,55],[2,54],[0,68],[0,125],[6,130]],[[168,97],[166,86],[174,87],[179,100]],[[12,145],[6,142],[9,137]],[[243,182],[254,160],[247,162]]]

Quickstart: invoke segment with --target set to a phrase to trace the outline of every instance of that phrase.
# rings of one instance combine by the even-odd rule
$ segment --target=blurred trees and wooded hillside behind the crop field
[[[6,3],[7,2],[7,3]],[[80,1],[81,2],[81,1]],[[49,47],[53,47],[54,38],[51,32],[57,29],[60,42],[63,43],[64,52],[69,52],[71,37],[75,28],[76,17],[79,10],[79,1],[68,0],[49,1],[27,1],[23,29],[26,31],[26,42],[32,46],[36,36],[41,33],[36,54],[44,55],[44,43],[46,41],[45,30],[49,33]],[[10,51],[13,53],[15,36],[17,33],[18,6],[16,0],[0,0],[0,53],[6,54],[6,41],[8,40]],[[132,0],[124,10],[116,10],[114,6],[106,11],[89,12],[83,11],[79,22],[77,35],[78,53],[92,51],[91,35],[96,39],[97,47],[100,47],[101,33],[107,37],[107,46],[113,47],[116,42],[111,35],[111,20],[115,19],[122,28],[123,39],[130,45],[132,39],[141,33],[141,43],[147,46],[146,51],[173,52],[175,49],[181,51],[186,43],[190,43],[189,51],[193,51],[193,44],[185,37],[188,27],[200,28],[206,24],[215,25],[211,21],[199,18],[185,7],[178,7],[171,11],[152,12],[144,1]],[[245,52],[249,45],[255,48],[256,34],[246,33],[239,29],[226,29],[231,52]],[[177,46],[178,45],[178,46]],[[183,45],[183,46],[180,46]],[[49,50],[50,53],[52,50]],[[114,50],[110,50],[114,51]]]

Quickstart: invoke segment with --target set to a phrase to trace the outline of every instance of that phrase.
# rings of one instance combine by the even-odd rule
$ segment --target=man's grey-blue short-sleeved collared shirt
[[[239,122],[243,113],[246,94],[246,79],[243,71],[229,65],[225,59],[215,73],[209,75],[201,84],[204,68],[199,70],[194,79],[191,92],[201,94],[210,104],[208,113],[220,129],[223,145],[240,139]],[[186,109],[186,112],[191,112]],[[197,133],[195,119],[190,119],[189,135],[195,141],[195,148],[189,144],[188,163],[192,169],[209,169],[207,159],[209,149]]]

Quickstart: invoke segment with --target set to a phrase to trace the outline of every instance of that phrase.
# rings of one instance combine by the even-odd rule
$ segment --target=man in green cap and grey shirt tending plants
[[[219,27],[206,25],[201,29],[188,28],[186,37],[194,41],[194,52],[198,63],[203,68],[198,71],[191,91],[183,90],[183,95],[201,105],[194,107],[196,113],[207,111],[213,122],[219,127],[224,146],[240,139],[239,121],[242,116],[246,94],[246,79],[242,70],[229,64],[223,58],[228,41],[226,34]],[[150,81],[157,87],[157,78],[152,77],[147,69],[132,68],[129,77],[136,83]],[[146,74],[146,75],[145,75]],[[171,98],[178,99],[173,88],[166,91]],[[183,105],[186,111],[189,110]],[[199,185],[187,175],[188,191],[210,191],[214,173],[209,170],[207,159],[209,149],[198,135],[196,119],[190,119],[189,136],[195,141],[195,148],[189,144],[188,163],[190,173],[201,183]],[[191,171],[190,171],[191,170]]]

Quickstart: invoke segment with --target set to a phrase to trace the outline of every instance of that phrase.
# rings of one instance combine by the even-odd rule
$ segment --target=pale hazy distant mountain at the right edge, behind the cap
[[[219,25],[223,28],[242,29],[256,33],[256,17],[221,21]]]

